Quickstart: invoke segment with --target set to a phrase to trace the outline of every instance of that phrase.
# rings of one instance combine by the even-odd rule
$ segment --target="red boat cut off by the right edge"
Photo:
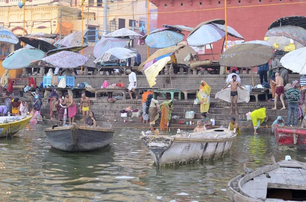
[[[276,125],[275,141],[280,150],[306,150],[306,128]]]

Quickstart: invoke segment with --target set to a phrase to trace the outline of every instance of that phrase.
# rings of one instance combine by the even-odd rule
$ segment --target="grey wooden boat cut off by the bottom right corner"
[[[306,201],[306,164],[271,158],[271,165],[254,171],[246,169],[227,184],[226,193],[234,202]],[[245,166],[246,167],[246,166]]]

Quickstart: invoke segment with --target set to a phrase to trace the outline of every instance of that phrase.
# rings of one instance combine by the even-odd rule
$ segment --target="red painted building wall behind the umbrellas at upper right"
[[[200,22],[221,18],[224,19],[224,9],[211,10],[211,11],[192,11],[182,13],[161,13],[173,11],[188,11],[188,10],[202,10],[202,9],[216,9],[224,8],[223,0],[194,0],[192,5],[186,0],[173,0],[173,6],[169,0],[150,0],[158,6],[158,27],[162,24],[181,24],[186,26],[195,27]],[[220,1],[220,4],[218,2]],[[200,2],[202,5],[200,5]],[[268,26],[276,19],[292,16],[292,15],[306,15],[306,4],[292,4],[292,5],[279,5],[284,3],[298,3],[299,0],[228,0],[227,1],[227,25],[233,27],[240,33],[245,41],[263,40],[268,30]],[[181,6],[183,3],[183,6]],[[167,4],[167,7],[165,7]],[[258,6],[248,8],[230,8],[230,7],[243,7],[254,5],[267,5],[278,4],[270,6]],[[184,33],[185,36],[189,33]],[[186,41],[186,37],[184,41]],[[228,37],[227,40],[239,40],[233,37]],[[220,52],[223,44],[223,39],[213,44],[214,53]],[[206,49],[205,53],[211,53],[210,49]],[[205,58],[207,59],[207,57]],[[203,60],[203,57],[201,57]]]

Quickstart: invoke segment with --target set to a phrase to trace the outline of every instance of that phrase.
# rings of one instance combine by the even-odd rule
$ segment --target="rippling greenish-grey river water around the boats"
[[[306,162],[303,152],[278,151],[272,135],[241,135],[217,160],[157,168],[140,130],[118,129],[109,148],[93,153],[50,150],[43,126],[0,139],[0,195],[5,201],[228,201],[226,184],[275,159]],[[117,177],[117,178],[116,178]]]

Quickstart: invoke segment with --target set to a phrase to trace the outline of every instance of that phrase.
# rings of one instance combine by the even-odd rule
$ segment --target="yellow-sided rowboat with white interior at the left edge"
[[[12,136],[27,125],[32,116],[0,117],[0,137]]]

